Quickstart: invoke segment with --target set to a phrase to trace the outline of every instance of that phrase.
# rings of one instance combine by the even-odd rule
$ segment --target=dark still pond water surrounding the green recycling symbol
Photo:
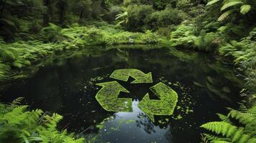
[[[24,97],[32,109],[62,114],[60,129],[75,132],[92,142],[200,142],[201,124],[217,120],[225,107],[237,107],[242,82],[232,65],[209,54],[170,49],[100,50],[94,47],[43,59],[29,77],[8,84],[1,102]],[[115,69],[151,72],[152,84],[129,84],[111,79]],[[24,73],[26,73],[24,71]],[[117,81],[132,98],[132,112],[107,112],[95,99],[97,83]],[[138,108],[149,88],[158,82],[174,89],[178,102],[171,116],[152,122]],[[151,99],[157,99],[150,94]]]

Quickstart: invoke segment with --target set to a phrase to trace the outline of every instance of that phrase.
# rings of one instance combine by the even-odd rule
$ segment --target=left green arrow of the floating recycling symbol
[[[105,110],[108,112],[132,112],[132,99],[118,98],[120,92],[130,93],[118,82],[105,82],[96,85],[103,87],[96,94],[96,99]]]

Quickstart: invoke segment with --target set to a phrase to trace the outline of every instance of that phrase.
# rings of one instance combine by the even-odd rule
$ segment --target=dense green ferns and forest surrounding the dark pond
[[[25,78],[40,59],[72,49],[155,44],[214,54],[246,84],[240,109],[201,126],[202,142],[256,142],[255,17],[255,0],[0,0],[0,80]],[[0,142],[90,142],[57,130],[61,119],[22,99],[1,103]]]

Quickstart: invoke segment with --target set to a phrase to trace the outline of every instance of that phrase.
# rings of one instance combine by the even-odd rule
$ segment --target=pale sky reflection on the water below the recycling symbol
[[[98,139],[106,142],[172,142],[170,125],[159,127],[153,124],[138,108],[136,100],[132,107],[133,112],[117,112],[105,121]]]

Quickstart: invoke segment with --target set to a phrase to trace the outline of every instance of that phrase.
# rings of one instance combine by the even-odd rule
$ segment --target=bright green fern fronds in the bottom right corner
[[[231,109],[229,114],[226,116],[219,115],[221,122],[208,122],[203,124],[201,127],[214,133],[214,135],[204,134],[204,137],[209,142],[256,142],[255,138],[255,127],[256,127],[256,114],[255,107],[250,109],[244,109],[237,111]],[[241,126],[237,126],[229,119],[236,119],[240,122]]]

